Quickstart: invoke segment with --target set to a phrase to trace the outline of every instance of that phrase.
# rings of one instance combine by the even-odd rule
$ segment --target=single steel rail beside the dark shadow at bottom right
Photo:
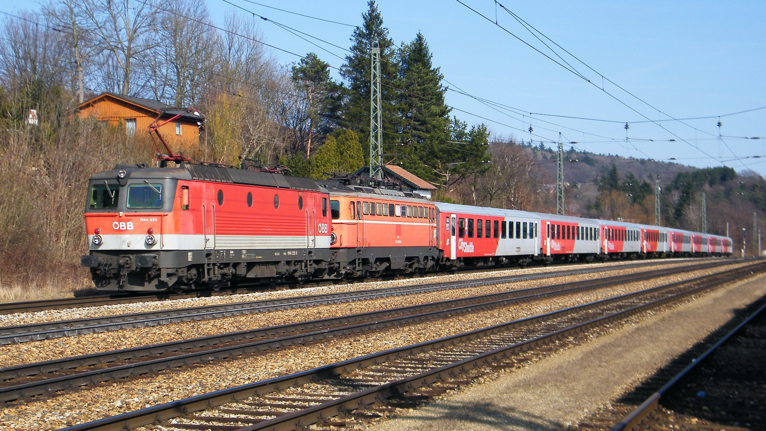
[[[663,387],[661,387],[655,393],[652,393],[650,397],[647,397],[647,400],[644,400],[643,403],[641,403],[640,406],[636,408],[636,410],[633,410],[633,412],[625,416],[623,420],[620,420],[620,422],[615,424],[610,429],[610,431],[630,431],[633,429],[643,429],[640,428],[641,422],[646,419],[647,416],[649,416],[654,410],[656,410],[656,408],[660,405],[660,399],[668,390],[673,389],[673,387],[678,384],[679,380],[686,376],[686,374],[689,374],[691,371],[693,371],[696,367],[699,367],[700,364],[704,363],[706,358],[718,350],[730,338],[737,335],[737,333],[741,331],[742,328],[745,328],[745,326],[749,325],[753,319],[758,318],[758,315],[761,315],[764,310],[766,310],[766,304],[761,305],[761,307],[748,318],[746,318],[745,321],[737,325],[737,327],[732,329],[732,331],[729,331],[726,335],[720,338],[719,341],[716,341],[715,344],[700,354],[697,358],[694,358],[691,364],[686,366],[686,368],[668,380],[668,382],[663,385]]]

